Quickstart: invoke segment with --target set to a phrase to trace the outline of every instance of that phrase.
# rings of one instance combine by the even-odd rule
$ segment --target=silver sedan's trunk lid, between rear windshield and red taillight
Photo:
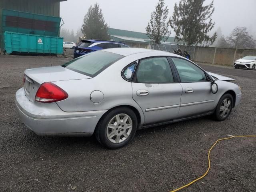
[[[24,91],[27,98],[34,102],[36,92],[44,82],[88,79],[90,76],[74,72],[62,66],[42,67],[25,70]]]

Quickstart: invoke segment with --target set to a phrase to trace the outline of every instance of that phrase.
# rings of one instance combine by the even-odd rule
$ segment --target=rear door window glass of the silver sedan
[[[136,72],[139,83],[174,82],[170,64],[165,57],[147,58],[140,61]]]

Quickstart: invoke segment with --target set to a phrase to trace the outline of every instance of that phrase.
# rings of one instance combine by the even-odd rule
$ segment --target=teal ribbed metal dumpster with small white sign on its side
[[[63,54],[63,38],[6,31],[4,50],[7,54]]]

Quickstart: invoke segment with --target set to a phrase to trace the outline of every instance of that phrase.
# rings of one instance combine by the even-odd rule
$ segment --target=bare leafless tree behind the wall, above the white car
[[[227,41],[232,48],[255,48],[256,42],[249,35],[247,27],[236,27],[228,36]]]

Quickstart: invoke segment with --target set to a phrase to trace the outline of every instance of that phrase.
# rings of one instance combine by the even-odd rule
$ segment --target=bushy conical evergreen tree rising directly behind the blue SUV
[[[81,30],[86,39],[110,39],[108,35],[108,24],[105,23],[102,10],[97,3],[88,9],[88,12],[84,16]]]

